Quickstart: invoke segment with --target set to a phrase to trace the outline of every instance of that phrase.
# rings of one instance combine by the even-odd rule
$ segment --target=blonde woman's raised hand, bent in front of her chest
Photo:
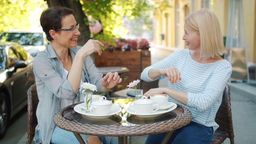
[[[160,69],[160,74],[163,76],[167,76],[171,84],[176,84],[181,80],[180,71],[178,68],[172,66],[170,68]]]

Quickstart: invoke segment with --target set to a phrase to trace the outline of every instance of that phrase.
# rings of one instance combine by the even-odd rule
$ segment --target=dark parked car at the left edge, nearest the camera
[[[0,139],[10,119],[27,106],[28,88],[35,83],[33,57],[15,42],[0,42]]]

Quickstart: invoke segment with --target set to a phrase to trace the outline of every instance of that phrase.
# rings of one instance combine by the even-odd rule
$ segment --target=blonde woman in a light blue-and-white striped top
[[[169,144],[210,144],[218,128],[214,118],[232,68],[221,57],[225,48],[218,18],[212,11],[203,8],[190,14],[184,31],[187,49],[175,51],[141,74],[145,81],[168,77],[168,87],[150,89],[144,95],[168,94],[170,102],[192,112],[192,122],[174,130]],[[165,134],[148,136],[146,144],[161,143]]]

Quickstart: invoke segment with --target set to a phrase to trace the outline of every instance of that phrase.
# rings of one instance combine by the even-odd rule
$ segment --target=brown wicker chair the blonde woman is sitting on
[[[217,122],[220,127],[214,132],[211,144],[221,144],[226,138],[230,138],[230,144],[234,144],[230,87],[228,84],[223,92],[222,103],[216,114],[215,122]]]

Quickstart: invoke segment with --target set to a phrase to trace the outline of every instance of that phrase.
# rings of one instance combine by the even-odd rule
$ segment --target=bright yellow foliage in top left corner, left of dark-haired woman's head
[[[33,24],[40,24],[38,8],[43,0],[0,0],[0,32],[7,30],[28,30]]]

